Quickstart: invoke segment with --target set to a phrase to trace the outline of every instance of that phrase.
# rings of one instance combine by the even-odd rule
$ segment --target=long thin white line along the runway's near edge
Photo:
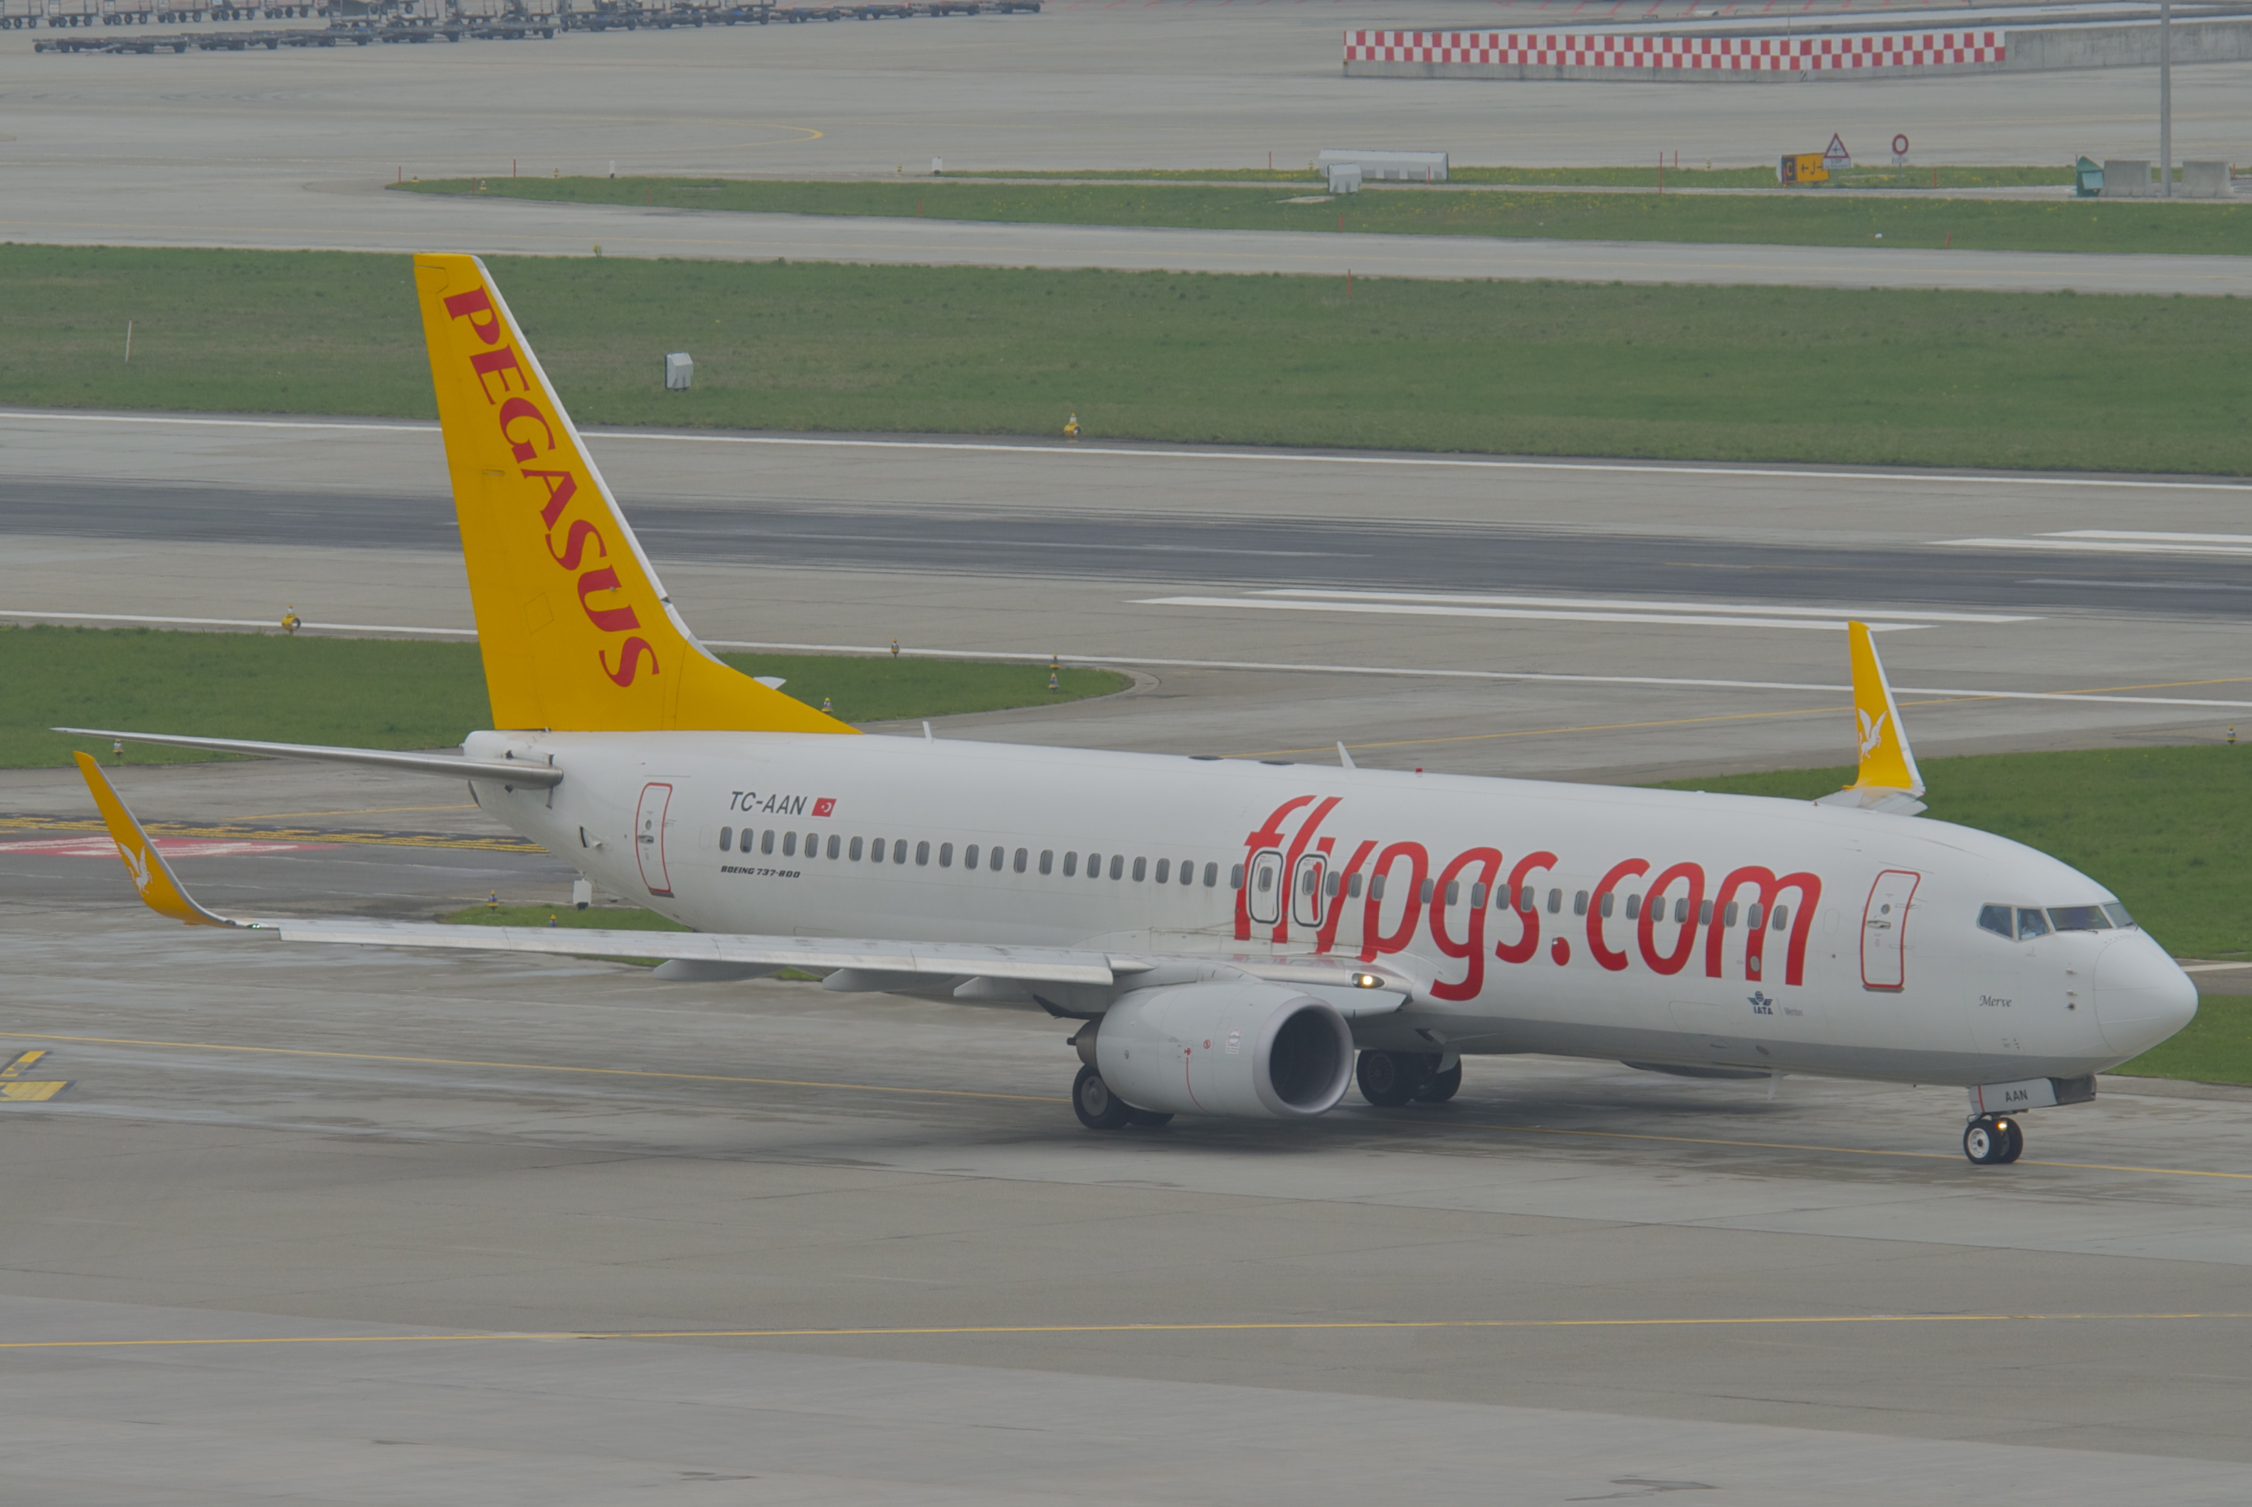
[[[248,628],[270,628],[263,619],[234,619],[234,617],[135,617],[122,613],[16,613],[0,610],[0,617],[23,617],[27,622],[155,622],[176,626],[248,626]],[[333,622],[333,624],[306,624],[306,628],[329,628],[333,633],[426,633],[444,637],[475,637],[475,628],[383,628],[374,624]],[[786,644],[772,640],[745,640],[745,637],[707,637],[700,640],[705,649],[761,649],[768,653],[865,653],[865,656],[890,656],[890,644]],[[1009,649],[901,649],[903,658],[912,660],[1009,660],[1020,665],[1036,665],[1052,656],[1045,653],[1016,653]],[[1540,683],[1552,680],[1556,685],[1651,685],[1651,687],[1680,687],[1680,689],[1707,689],[1707,692],[1822,692],[1831,696],[1844,696],[1851,685],[1831,685],[1824,680],[1703,680],[1689,676],[1572,676],[1549,669],[1417,669],[1410,665],[1295,665],[1290,660],[1169,660],[1155,656],[1133,656],[1133,653],[1065,653],[1054,656],[1065,665],[1128,665],[1149,669],[1254,669],[1254,671],[1277,671],[1277,674],[1313,674],[1313,676],[1383,676],[1387,680],[1421,678],[1421,680],[1525,680]],[[2097,703],[2124,703],[2130,707],[2229,707],[2229,710],[2252,710],[2252,701],[2214,701],[2202,696],[2112,696],[2103,692],[1995,692],[1995,689],[1968,689],[1959,685],[1896,685],[1892,687],[1901,696],[1959,696],[1964,701],[2097,701]]]

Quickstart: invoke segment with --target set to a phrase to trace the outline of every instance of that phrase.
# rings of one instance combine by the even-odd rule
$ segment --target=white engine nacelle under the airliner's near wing
[[[1164,984],[1103,1014],[1092,1065],[1135,1108],[1304,1120],[1344,1097],[1353,1032],[1286,984]]]

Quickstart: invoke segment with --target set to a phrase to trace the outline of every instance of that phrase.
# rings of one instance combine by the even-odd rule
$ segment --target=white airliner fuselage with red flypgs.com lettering
[[[698,930],[1367,960],[1414,989],[1362,1047],[1995,1084],[2097,1072],[2196,1009],[2139,928],[1982,930],[2115,897],[1921,818],[944,739],[466,750],[561,766],[480,802]]]

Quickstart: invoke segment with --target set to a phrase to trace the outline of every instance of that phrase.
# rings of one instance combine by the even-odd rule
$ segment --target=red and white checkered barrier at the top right
[[[2007,32],[1865,36],[1588,36],[1576,32],[1347,32],[1347,63],[1486,63],[1698,72],[1844,72],[2000,63]]]

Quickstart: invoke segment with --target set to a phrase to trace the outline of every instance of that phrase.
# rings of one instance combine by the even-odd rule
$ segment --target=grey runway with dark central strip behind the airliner
[[[1331,759],[1342,739],[1376,766],[1567,779],[1842,764],[1851,615],[1887,624],[1925,759],[2209,739],[2252,714],[2241,482],[590,446],[712,642],[899,637],[1140,676],[1119,698],[946,719],[948,737]],[[426,426],[18,412],[0,451],[0,613],[293,604],[471,628]]]

